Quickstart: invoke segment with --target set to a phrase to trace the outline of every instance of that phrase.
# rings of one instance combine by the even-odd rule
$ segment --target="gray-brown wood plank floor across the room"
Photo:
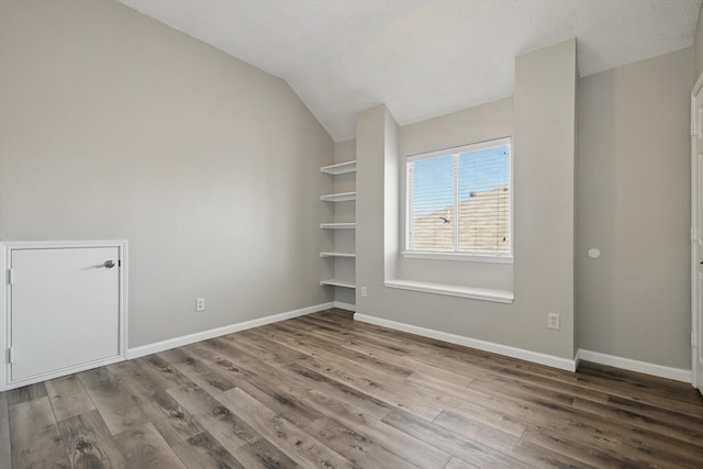
[[[0,393],[10,467],[703,468],[703,399],[330,310]]]

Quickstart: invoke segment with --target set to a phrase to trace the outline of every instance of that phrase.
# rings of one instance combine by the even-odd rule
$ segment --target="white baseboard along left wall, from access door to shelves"
[[[245,331],[252,327],[259,327],[266,324],[277,323],[280,321],[290,320],[298,316],[304,316],[306,314],[316,313],[333,308],[334,303],[322,303],[314,306],[302,308],[300,310],[288,311],[280,314],[274,314],[266,317],[259,317],[257,320],[245,321],[243,323],[231,324],[223,327],[216,327],[209,331],[198,332],[196,334],[183,335],[180,337],[174,337],[166,340],[157,342],[154,344],[143,345],[141,347],[130,348],[127,350],[127,359],[144,357],[145,355],[157,354],[159,351],[168,350],[176,347],[182,347],[183,345],[194,344],[196,342],[207,340],[209,338],[220,337],[223,335],[232,334],[239,331]]]

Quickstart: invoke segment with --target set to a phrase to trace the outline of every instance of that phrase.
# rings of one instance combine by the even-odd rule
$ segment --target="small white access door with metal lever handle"
[[[123,359],[124,246],[5,247],[10,389]]]

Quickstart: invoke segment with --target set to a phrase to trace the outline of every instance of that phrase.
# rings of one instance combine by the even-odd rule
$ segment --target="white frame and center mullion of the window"
[[[412,199],[412,183],[411,171],[409,165],[411,163],[421,161],[424,159],[432,159],[442,156],[457,156],[464,153],[480,152],[483,149],[495,148],[500,146],[510,147],[510,253],[509,254],[483,254],[483,253],[459,253],[458,249],[458,232],[459,223],[454,223],[454,252],[423,252],[411,249],[411,224],[414,220],[413,199]],[[455,158],[455,165],[458,164],[458,158]],[[468,145],[438,149],[429,153],[421,153],[415,155],[409,155],[405,157],[405,223],[404,223],[404,247],[401,253],[403,257],[417,258],[417,259],[434,259],[434,260],[464,260],[473,263],[494,263],[494,264],[513,264],[513,246],[514,246],[514,181],[513,181],[513,163],[514,153],[512,137],[505,136],[494,138],[490,141],[477,142]],[[458,187],[457,180],[459,177],[458,171],[455,168],[455,187]],[[455,190],[454,201],[454,219],[457,219],[458,210],[458,190]]]

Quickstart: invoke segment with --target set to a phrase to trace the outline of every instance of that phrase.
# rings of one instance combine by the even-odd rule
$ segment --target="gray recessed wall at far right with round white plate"
[[[582,78],[579,90],[580,346],[684,369],[691,68],[683,49]]]

